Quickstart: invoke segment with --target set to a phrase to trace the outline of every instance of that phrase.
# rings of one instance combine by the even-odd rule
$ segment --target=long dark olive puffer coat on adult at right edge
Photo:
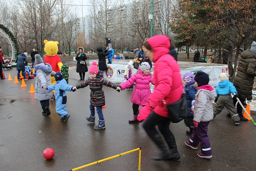
[[[233,84],[241,99],[252,100],[252,89],[256,76],[256,54],[253,51],[245,50],[241,53],[241,57]]]

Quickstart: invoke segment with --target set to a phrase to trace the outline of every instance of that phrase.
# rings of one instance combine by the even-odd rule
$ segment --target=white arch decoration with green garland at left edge
[[[18,47],[16,38],[13,36],[12,32],[10,32],[10,30],[2,24],[0,24],[0,32],[7,38],[7,40],[11,45],[12,59],[16,59],[16,57],[19,54],[19,47]],[[11,62],[12,62],[12,59],[11,59]]]

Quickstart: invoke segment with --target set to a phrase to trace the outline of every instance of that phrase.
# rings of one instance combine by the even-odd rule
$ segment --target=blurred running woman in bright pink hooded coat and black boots
[[[144,130],[161,150],[161,154],[154,159],[179,161],[180,155],[175,138],[169,128],[171,121],[166,105],[163,103],[163,100],[166,101],[166,104],[172,104],[181,99],[183,86],[179,65],[173,56],[168,54],[169,47],[171,47],[168,37],[164,35],[153,36],[142,45],[145,56],[148,56],[149,60],[155,63],[155,91],[149,96],[147,104],[140,109],[137,119],[139,122],[145,120]],[[169,149],[155,126],[158,126]]]

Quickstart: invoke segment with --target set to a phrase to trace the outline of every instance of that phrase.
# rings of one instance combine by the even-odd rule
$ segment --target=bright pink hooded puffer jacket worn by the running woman
[[[146,40],[153,50],[155,91],[149,96],[148,102],[154,108],[155,113],[163,117],[169,117],[166,104],[180,100],[182,95],[182,82],[179,65],[169,55],[170,40],[164,35],[158,35]]]

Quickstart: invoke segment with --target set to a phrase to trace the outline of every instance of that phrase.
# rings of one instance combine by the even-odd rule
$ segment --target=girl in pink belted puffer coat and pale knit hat
[[[139,106],[145,106],[147,104],[146,100],[151,95],[149,83],[151,82],[153,85],[155,85],[154,77],[149,75],[149,69],[149,63],[142,62],[138,69],[139,73],[134,74],[126,82],[119,85],[121,90],[124,90],[131,87],[134,82],[136,82],[135,89],[131,95],[131,102],[133,103],[133,119],[130,119],[129,123],[138,123],[136,117],[139,114]]]

